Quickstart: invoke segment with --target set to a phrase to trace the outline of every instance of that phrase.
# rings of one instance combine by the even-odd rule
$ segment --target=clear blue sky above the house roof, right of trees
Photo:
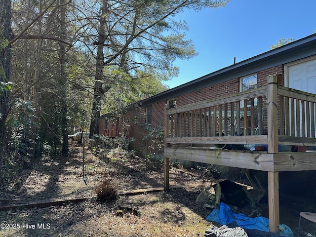
[[[316,0],[231,0],[224,8],[186,11],[179,16],[198,55],[176,60],[170,88],[270,50],[279,39],[299,40],[316,29]]]

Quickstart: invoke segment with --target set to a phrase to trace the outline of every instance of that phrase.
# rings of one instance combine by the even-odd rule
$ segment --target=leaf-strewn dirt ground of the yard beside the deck
[[[68,158],[43,158],[32,170],[26,170],[18,187],[0,191],[0,205],[25,203],[53,197],[88,196],[87,201],[65,203],[47,208],[16,208],[0,211],[3,237],[198,237],[212,225],[205,220],[212,211],[196,199],[200,192],[220,182],[202,170],[172,165],[170,185],[185,188],[169,192],[118,196],[98,201],[94,188],[106,177],[118,191],[163,187],[163,164],[139,157],[103,162],[85,149],[82,177],[82,147],[74,146]],[[118,164],[119,163],[119,164]],[[236,180],[247,184],[246,180]],[[297,236],[298,217],[302,210],[316,212],[315,200],[304,197],[280,197],[280,224],[288,225]],[[258,207],[259,208],[259,207]],[[118,210],[121,209],[121,212]],[[267,217],[267,205],[260,206]],[[132,211],[131,211],[132,210]],[[258,209],[259,210],[259,209]],[[244,205],[238,212],[250,214],[253,208]],[[316,227],[302,223],[302,237],[315,236]]]

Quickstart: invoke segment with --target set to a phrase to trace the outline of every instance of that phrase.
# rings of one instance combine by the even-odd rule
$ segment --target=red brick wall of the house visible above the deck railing
[[[267,84],[267,76],[272,74],[284,74],[283,65],[273,67],[267,70],[257,72],[257,85],[258,87]],[[248,76],[248,75],[243,75]],[[284,81],[283,81],[284,84]],[[218,98],[221,96],[234,94],[239,92],[239,78],[231,79],[225,82],[219,82],[218,84],[205,87],[203,89],[184,94],[175,98],[177,106],[183,106],[187,104],[196,103],[199,101]],[[152,124],[148,125],[146,121],[146,107],[135,108],[129,110],[125,114],[125,120],[128,123],[127,137],[133,137],[135,141],[131,144],[131,148],[141,151],[144,155],[149,152],[150,138],[148,138],[148,129],[151,128],[164,128],[164,105],[167,100],[158,102],[152,105]],[[264,100],[266,103],[266,100]],[[264,127],[267,124],[264,124]],[[147,138],[146,138],[147,137]],[[146,138],[146,139],[144,139]]]

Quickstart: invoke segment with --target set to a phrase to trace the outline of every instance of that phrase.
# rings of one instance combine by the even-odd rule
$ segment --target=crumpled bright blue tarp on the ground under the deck
[[[250,218],[242,213],[236,214],[227,204],[221,202],[219,209],[214,209],[207,217],[208,221],[216,221],[221,225],[228,225],[235,221],[243,229],[255,229],[269,232],[269,219],[265,217]],[[282,224],[280,225],[280,236],[294,237],[291,229]]]

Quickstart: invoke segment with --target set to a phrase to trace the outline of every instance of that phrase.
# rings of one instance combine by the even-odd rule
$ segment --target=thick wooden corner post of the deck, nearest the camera
[[[277,135],[277,76],[267,77],[267,106],[268,106],[268,153],[278,153]],[[269,230],[279,234],[279,193],[278,172],[268,172],[269,197]]]

